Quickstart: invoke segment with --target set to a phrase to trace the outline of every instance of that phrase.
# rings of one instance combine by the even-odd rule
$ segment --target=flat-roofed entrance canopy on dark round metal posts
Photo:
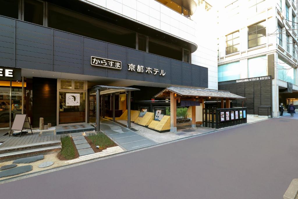
[[[137,91],[139,89],[129,88],[129,87],[114,87],[114,86],[104,86],[97,85],[88,90],[89,94],[96,93],[96,130],[100,131],[100,95],[113,94],[113,121],[115,121],[115,94],[127,92],[127,127],[130,128],[130,116],[131,116],[131,91]],[[104,106],[103,106],[104,107]]]

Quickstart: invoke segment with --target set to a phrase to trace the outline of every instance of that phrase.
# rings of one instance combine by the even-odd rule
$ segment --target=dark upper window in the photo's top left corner
[[[0,15],[18,18],[18,0],[0,0]]]

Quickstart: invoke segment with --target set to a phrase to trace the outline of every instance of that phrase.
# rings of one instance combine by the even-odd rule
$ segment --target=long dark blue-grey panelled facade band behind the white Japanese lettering
[[[122,69],[91,66],[91,56],[121,61]],[[128,71],[128,64],[143,66],[143,72]],[[208,68],[5,17],[0,17],[0,66],[208,87]]]

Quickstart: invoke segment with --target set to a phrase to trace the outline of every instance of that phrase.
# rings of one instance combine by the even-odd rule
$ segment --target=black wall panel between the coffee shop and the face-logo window
[[[44,124],[57,122],[57,79],[33,77],[33,127],[39,126],[39,118]]]

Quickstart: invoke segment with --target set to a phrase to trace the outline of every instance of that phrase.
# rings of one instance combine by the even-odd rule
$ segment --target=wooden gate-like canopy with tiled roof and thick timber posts
[[[168,87],[154,96],[154,98],[170,98],[170,132],[176,132],[176,105],[181,100],[193,101],[192,102],[192,118],[196,118],[196,105],[202,103],[202,109],[205,108],[204,101],[208,99],[221,99],[221,108],[224,108],[224,99],[226,99],[226,108],[230,108],[231,99],[243,99],[245,97],[235,95],[229,91],[218,91],[201,88],[189,87]],[[195,102],[194,102],[195,101]],[[196,103],[197,102],[197,103]],[[201,121],[199,121],[201,122]],[[196,128],[196,119],[191,121],[192,127]]]

